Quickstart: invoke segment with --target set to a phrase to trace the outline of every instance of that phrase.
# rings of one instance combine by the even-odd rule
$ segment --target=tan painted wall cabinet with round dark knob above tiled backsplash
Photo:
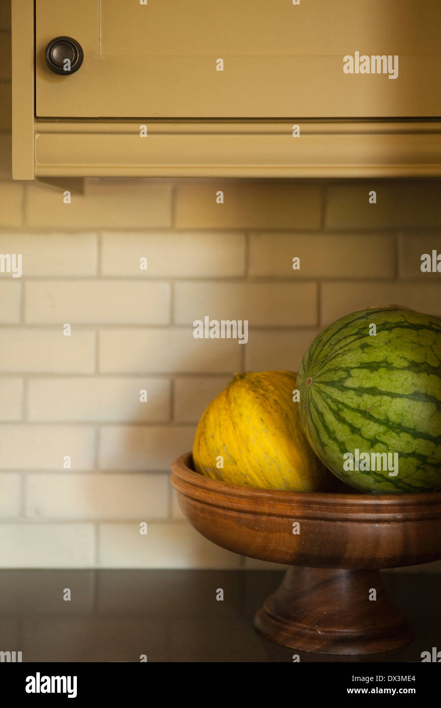
[[[16,178],[441,172],[438,0],[12,7]]]

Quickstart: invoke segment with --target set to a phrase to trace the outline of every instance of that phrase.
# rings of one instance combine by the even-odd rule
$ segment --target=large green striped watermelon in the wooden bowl
[[[370,309],[331,324],[304,354],[297,377],[302,424],[316,455],[362,491],[441,489],[440,362],[435,316]],[[391,474],[395,452],[398,474]]]

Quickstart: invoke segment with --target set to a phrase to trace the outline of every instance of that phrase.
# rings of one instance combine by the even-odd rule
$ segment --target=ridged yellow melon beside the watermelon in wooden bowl
[[[236,374],[197,426],[196,472],[260,489],[327,489],[331,475],[309,447],[295,389],[293,372]]]

